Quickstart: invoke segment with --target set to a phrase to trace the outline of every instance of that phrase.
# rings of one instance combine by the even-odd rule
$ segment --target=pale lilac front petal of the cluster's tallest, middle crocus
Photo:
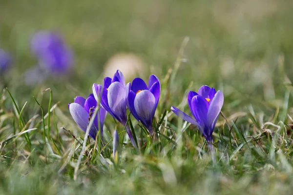
[[[122,124],[126,123],[126,90],[120,82],[113,82],[108,88],[108,102],[112,113]]]

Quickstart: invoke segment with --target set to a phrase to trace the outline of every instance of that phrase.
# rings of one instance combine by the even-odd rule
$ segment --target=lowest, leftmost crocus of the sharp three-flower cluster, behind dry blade
[[[74,103],[69,104],[69,111],[73,120],[84,132],[86,132],[87,125],[89,124],[90,118],[94,114],[96,107],[97,101],[93,94],[90,94],[86,99],[78,96],[74,99]],[[93,139],[96,139],[99,129],[101,131],[101,137],[103,137],[103,125],[107,112],[101,106],[98,112],[99,113],[96,114],[92,127],[89,130],[89,136]],[[100,117],[99,120],[98,116]]]

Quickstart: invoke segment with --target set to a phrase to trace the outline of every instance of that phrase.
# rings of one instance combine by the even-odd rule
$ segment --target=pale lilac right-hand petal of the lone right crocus
[[[218,91],[209,105],[209,111],[207,115],[209,128],[211,130],[213,130],[215,127],[215,124],[217,122],[218,116],[222,109],[223,103],[224,103],[224,95],[221,91]]]

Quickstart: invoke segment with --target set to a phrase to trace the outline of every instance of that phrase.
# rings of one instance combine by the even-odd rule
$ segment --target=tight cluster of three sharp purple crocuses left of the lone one
[[[159,79],[151,75],[148,81],[148,86],[141,78],[135,78],[131,83],[125,82],[125,78],[121,71],[117,70],[113,78],[104,78],[104,84],[93,84],[93,94],[86,100],[82,97],[76,97],[74,103],[69,104],[70,114],[78,126],[86,131],[89,123],[87,118],[90,117],[89,108],[96,108],[98,102],[101,103],[100,116],[101,126],[105,119],[105,112],[108,112],[112,117],[118,120],[125,126],[128,137],[132,145],[137,148],[137,144],[132,135],[132,132],[127,124],[127,108],[132,115],[146,127],[150,134],[153,133],[152,121],[160,98],[161,85]],[[87,119],[87,120],[86,120]],[[97,123],[94,123],[97,124]],[[98,125],[94,125],[96,127]],[[99,128],[91,129],[91,132],[96,132]],[[103,132],[101,132],[103,134]],[[94,133],[90,136],[95,138]]]

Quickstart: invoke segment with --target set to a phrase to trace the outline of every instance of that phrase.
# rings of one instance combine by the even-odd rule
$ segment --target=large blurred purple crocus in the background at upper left
[[[72,67],[72,51],[56,32],[35,33],[31,40],[31,50],[38,57],[39,66],[49,74],[66,74]]]

